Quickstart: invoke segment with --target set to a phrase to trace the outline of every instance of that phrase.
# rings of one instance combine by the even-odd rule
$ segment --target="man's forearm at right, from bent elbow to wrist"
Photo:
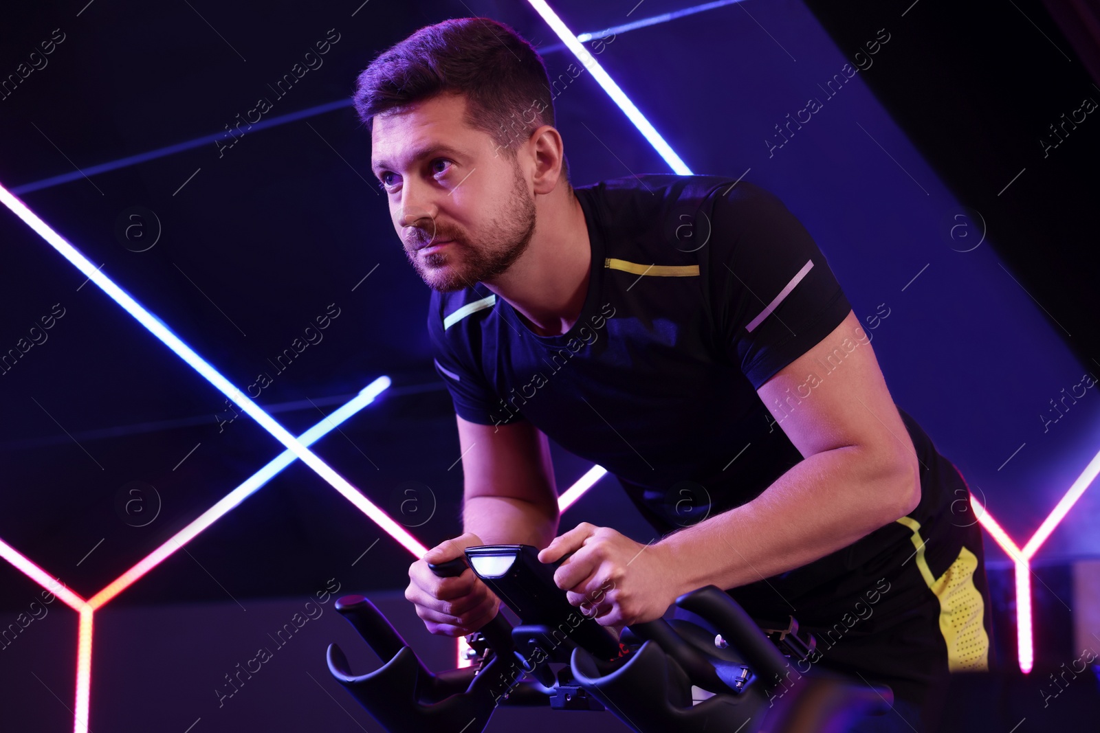
[[[913,470],[909,467],[913,466]],[[914,486],[915,485],[915,486]],[[801,567],[912,510],[915,462],[848,446],[802,460],[752,501],[657,543],[681,593],[735,588]]]

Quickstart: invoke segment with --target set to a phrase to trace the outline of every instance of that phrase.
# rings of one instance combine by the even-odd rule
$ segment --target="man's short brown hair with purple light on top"
[[[554,123],[542,57],[509,26],[488,18],[426,25],[391,46],[359,75],[352,101],[371,130],[383,112],[447,92],[465,96],[466,124],[492,135],[509,156],[536,129]]]

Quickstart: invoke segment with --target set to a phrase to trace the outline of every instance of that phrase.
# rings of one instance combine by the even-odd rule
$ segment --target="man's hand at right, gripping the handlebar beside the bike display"
[[[554,571],[581,613],[616,631],[653,621],[675,601],[675,568],[659,544],[642,545],[606,526],[582,522],[539,553],[553,563],[573,553]]]

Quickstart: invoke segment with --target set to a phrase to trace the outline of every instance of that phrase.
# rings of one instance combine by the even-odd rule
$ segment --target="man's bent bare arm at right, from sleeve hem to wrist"
[[[827,371],[833,364],[839,366]],[[800,567],[920,502],[916,453],[851,312],[757,393],[804,459],[755,500],[654,545],[680,592],[734,588]]]

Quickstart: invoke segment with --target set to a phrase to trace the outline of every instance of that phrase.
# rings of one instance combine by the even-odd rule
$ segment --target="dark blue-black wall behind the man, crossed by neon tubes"
[[[580,33],[691,3],[552,4]],[[552,77],[574,63],[520,2],[45,3],[6,10],[0,29],[0,75],[52,35],[64,37],[43,68],[0,99],[0,182],[233,384],[272,374],[258,402],[292,432],[391,376],[394,387],[377,404],[316,449],[427,545],[459,531],[453,412],[431,368],[428,292],[371,184],[370,136],[345,102],[378,51],[420,25],[471,13],[507,22],[540,46]],[[339,40],[323,65],[277,98],[267,85],[327,35]],[[1044,7],[747,0],[619,32],[597,59],[695,173],[744,173],[779,195],[822,246],[857,315],[889,309],[868,326],[876,325],[872,343],[895,401],[1023,544],[1100,443],[1096,389],[1067,401],[1060,417],[1050,403],[1086,371],[1100,374],[1089,267],[1100,123],[1088,115],[1045,157],[1040,142],[1053,143],[1047,125],[1086,97],[1100,101],[1100,90]],[[859,70],[831,95],[824,87],[845,64]],[[275,100],[265,121],[334,104],[256,125],[232,147],[213,142],[262,96]],[[776,125],[811,97],[822,109],[783,142]],[[574,185],[668,171],[588,75],[556,104]],[[51,180],[66,175],[72,180]],[[134,207],[146,238],[125,235]],[[282,446],[235,418],[220,393],[7,211],[0,242],[0,349],[55,304],[64,312],[48,340],[0,376],[0,537],[89,597]],[[323,341],[278,374],[268,359],[331,308],[339,315]],[[554,463],[561,489],[588,467],[557,449]],[[146,515],[136,521],[118,502],[133,481],[143,509],[158,507],[141,526]],[[421,501],[402,515],[410,486]],[[1044,560],[1100,554],[1098,515],[1100,502],[1086,493]],[[651,537],[610,478],[562,526],[583,520]],[[992,560],[1003,560],[988,545]],[[266,620],[295,603],[277,599],[308,596],[331,577],[372,597],[393,593],[407,582],[409,562],[312,471],[292,466],[97,615],[92,730],[99,721],[145,730],[146,715],[169,708],[178,718],[152,728],[184,730],[199,717],[199,725],[212,721],[206,730],[243,724],[206,717],[217,700],[202,690],[241,659],[238,641],[246,653]],[[1036,607],[1060,613],[1063,587],[1033,585]],[[0,564],[0,606],[10,615],[36,592]],[[230,620],[239,604],[250,611]],[[270,612],[252,621],[253,608]],[[399,598],[391,608],[417,628]],[[12,680],[0,686],[0,714],[19,730],[68,725],[75,614],[59,602],[52,609],[18,648],[0,652],[2,677]],[[188,626],[190,618],[204,620]],[[322,624],[331,624],[323,634]],[[333,730],[359,730],[306,678],[311,669],[374,730],[322,674],[323,645],[346,635],[343,625],[330,612],[304,630],[311,635],[296,647],[300,656],[277,659],[280,667],[245,690],[252,702],[238,707],[249,709],[245,719],[262,724],[328,706],[316,714],[334,714]],[[440,641],[426,636],[417,643]],[[1038,647],[1041,658],[1055,652],[1071,658]],[[1002,653],[1015,656],[1014,647]],[[448,662],[444,654],[440,664]],[[299,708],[297,691],[319,702]],[[141,702],[148,696],[156,704]]]

